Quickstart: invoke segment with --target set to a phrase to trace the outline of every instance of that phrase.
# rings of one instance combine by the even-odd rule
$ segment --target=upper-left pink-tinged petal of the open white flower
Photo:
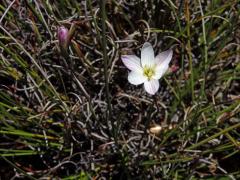
[[[122,55],[121,56],[123,64],[130,70],[135,72],[141,72],[142,67],[140,64],[140,59],[135,55]]]

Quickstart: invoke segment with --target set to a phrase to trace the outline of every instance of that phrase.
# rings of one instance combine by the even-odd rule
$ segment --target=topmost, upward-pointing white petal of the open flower
[[[152,45],[149,42],[143,44],[141,50],[141,64],[142,67],[148,66],[151,67],[155,64],[154,51]]]

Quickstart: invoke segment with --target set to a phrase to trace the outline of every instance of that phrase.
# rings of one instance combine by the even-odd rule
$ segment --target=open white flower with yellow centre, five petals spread
[[[159,79],[168,70],[172,55],[173,51],[169,49],[154,57],[152,45],[146,42],[141,50],[141,59],[135,55],[123,55],[121,59],[131,70],[128,81],[134,85],[144,83],[144,89],[154,95],[159,89]]]

